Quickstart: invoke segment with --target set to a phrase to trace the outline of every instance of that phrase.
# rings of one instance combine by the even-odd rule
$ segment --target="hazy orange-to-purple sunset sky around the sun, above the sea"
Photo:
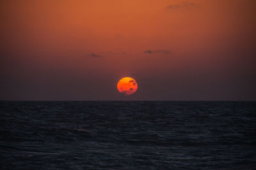
[[[0,1],[0,100],[256,99],[254,0]],[[138,90],[123,96],[120,78]]]

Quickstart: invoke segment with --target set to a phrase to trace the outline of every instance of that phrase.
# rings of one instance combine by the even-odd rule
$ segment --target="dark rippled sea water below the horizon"
[[[0,169],[255,169],[256,102],[0,102]]]

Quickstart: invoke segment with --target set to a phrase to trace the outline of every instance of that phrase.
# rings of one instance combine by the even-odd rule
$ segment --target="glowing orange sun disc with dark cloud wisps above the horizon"
[[[121,78],[117,83],[117,90],[125,95],[131,95],[138,89],[138,84],[131,77]]]

